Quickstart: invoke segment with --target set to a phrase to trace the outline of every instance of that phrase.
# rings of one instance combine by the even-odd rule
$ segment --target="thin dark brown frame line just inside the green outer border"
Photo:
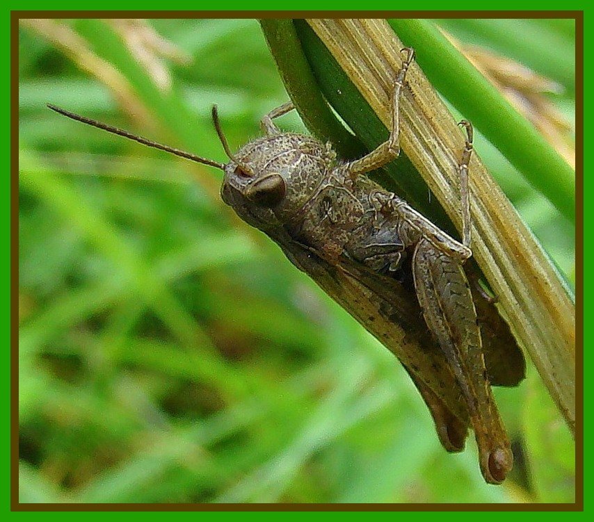
[[[19,503],[18,424],[18,152],[19,19],[26,18],[570,18],[576,22],[576,497],[573,504],[30,504]],[[12,511],[583,511],[584,509],[584,12],[576,10],[407,10],[407,11],[78,11],[13,10],[10,12],[10,509]]]

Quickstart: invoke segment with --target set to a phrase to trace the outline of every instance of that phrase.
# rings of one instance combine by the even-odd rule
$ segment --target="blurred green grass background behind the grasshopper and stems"
[[[437,23],[538,71],[518,21]],[[571,21],[522,24],[574,49]],[[572,58],[538,71],[570,128]],[[286,100],[255,20],[22,22],[21,502],[572,502],[572,437],[531,366],[495,390],[516,462],[488,486],[472,437],[441,448],[399,362],[234,217],[220,172],[45,108],[224,161],[213,103],[233,149]],[[476,149],[572,282],[572,225]]]

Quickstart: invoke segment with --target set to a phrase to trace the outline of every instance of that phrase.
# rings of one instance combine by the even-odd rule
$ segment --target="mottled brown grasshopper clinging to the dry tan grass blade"
[[[337,161],[330,144],[280,131],[273,120],[291,111],[291,103],[264,116],[262,129],[266,135],[236,154],[227,145],[214,106],[216,131],[230,158],[226,164],[55,106],[49,108],[223,170],[223,201],[278,243],[300,270],[396,354],[428,405],[444,448],[463,450],[467,428],[472,424],[483,477],[499,484],[512,468],[513,454],[490,379],[494,384],[517,384],[523,377],[524,361],[515,343],[508,353],[521,368],[510,375],[504,368],[506,362],[496,359],[505,357],[495,353],[499,348],[495,350],[492,341],[501,327],[484,319],[488,314],[481,311],[482,304],[477,317],[463,270],[463,263],[472,256],[467,186],[472,126],[461,122],[467,131],[459,166],[462,243],[364,175],[399,156],[399,97],[414,59],[412,49],[403,50],[406,60],[392,93],[390,138],[355,161]],[[426,326],[419,326],[420,310]],[[483,350],[479,324],[488,332],[492,350]]]

